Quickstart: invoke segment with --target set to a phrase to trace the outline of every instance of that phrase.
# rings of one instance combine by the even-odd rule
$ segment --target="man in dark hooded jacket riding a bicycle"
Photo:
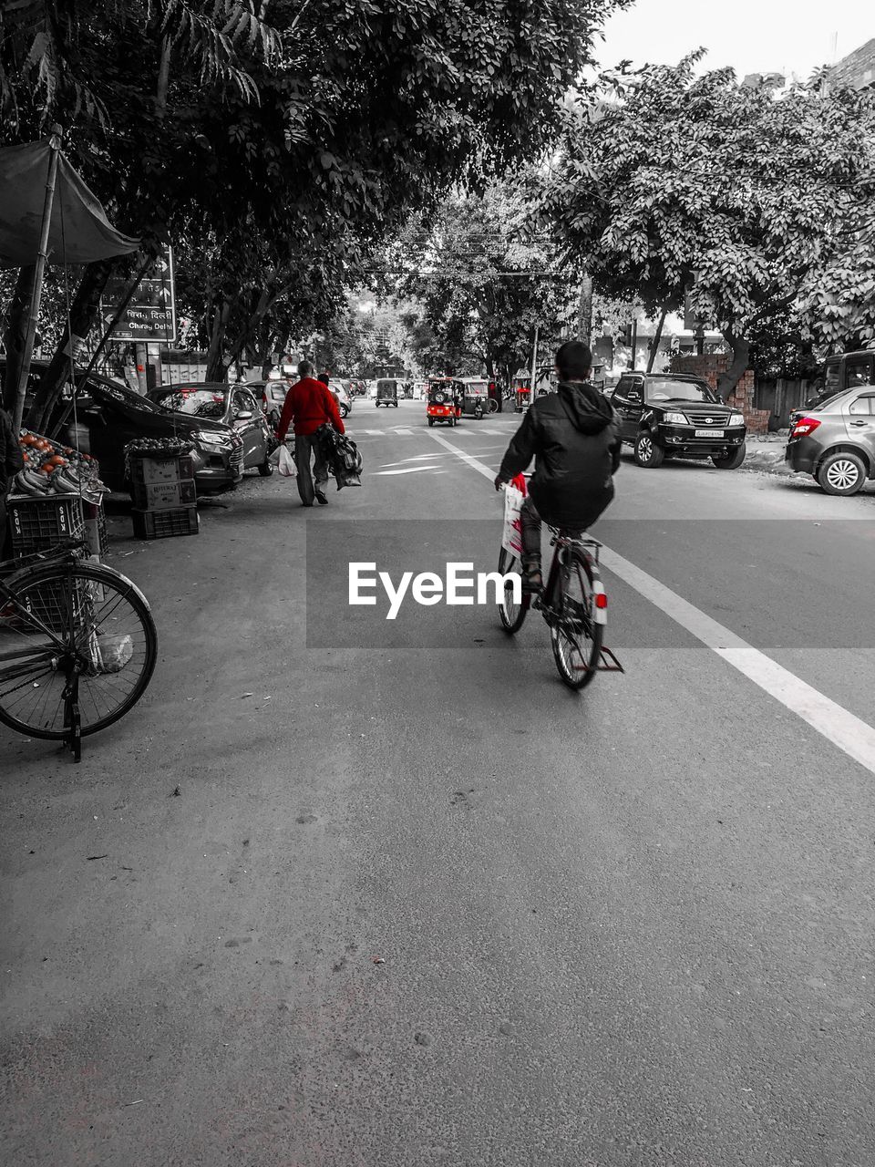
[[[620,419],[589,384],[593,354],[580,341],[556,352],[559,391],[528,406],[495,480],[496,490],[522,474],[534,457],[534,474],[520,515],[523,591],[538,594],[541,576],[541,518],[581,532],[614,498],[620,466]]]

